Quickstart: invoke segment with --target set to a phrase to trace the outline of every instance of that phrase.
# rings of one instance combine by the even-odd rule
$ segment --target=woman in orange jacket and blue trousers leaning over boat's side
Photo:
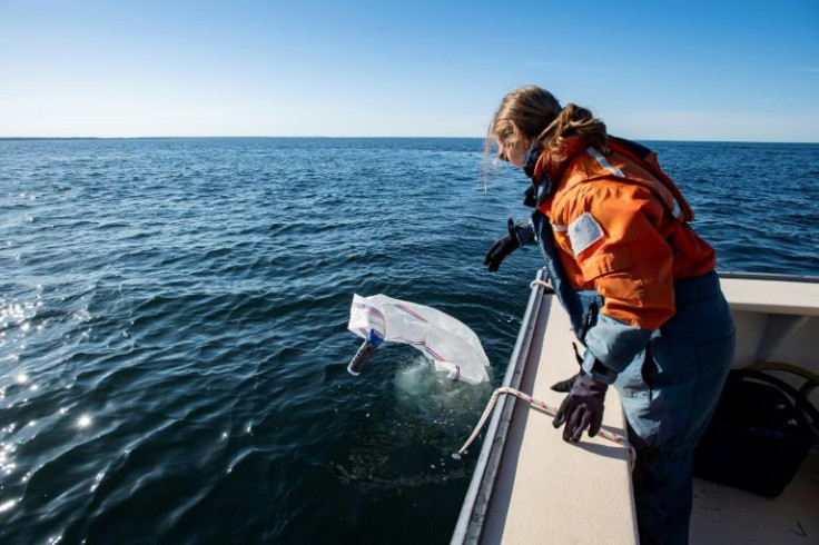
[[[585,108],[561,107],[535,86],[516,89],[489,143],[531,179],[534,212],[510,220],[484,264],[496,271],[514,249],[537,244],[585,346],[553,424],[565,440],[595,435],[614,385],[638,453],[641,542],[688,543],[692,454],[733,356],[714,251],[689,226],[693,214],[653,153],[608,136]]]

